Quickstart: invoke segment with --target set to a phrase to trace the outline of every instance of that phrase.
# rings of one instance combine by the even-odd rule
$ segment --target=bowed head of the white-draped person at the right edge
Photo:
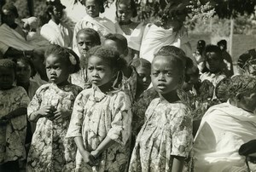
[[[256,114],[256,78],[244,75],[231,77],[228,89],[230,103]]]

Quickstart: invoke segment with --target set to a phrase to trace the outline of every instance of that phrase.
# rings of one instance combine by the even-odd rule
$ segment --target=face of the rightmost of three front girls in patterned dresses
[[[182,83],[177,62],[168,56],[156,56],[152,62],[151,80],[154,89],[161,95],[166,95]]]

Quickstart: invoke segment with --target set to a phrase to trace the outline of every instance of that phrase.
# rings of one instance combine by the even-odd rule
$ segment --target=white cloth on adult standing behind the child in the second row
[[[80,20],[74,27],[73,30],[73,51],[79,54],[78,44],[77,44],[77,33],[79,30],[84,28],[91,28],[96,30],[101,37],[101,41],[104,40],[104,37],[108,35],[108,33],[115,33],[116,29],[113,24],[113,21],[108,20],[105,17],[96,17],[92,18],[90,15],[85,15],[82,20]]]

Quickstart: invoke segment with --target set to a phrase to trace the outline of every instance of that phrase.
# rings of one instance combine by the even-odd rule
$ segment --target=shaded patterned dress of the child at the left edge
[[[20,107],[27,107],[29,97],[22,87],[0,90],[0,118]],[[0,125],[0,164],[25,159],[26,114]]]

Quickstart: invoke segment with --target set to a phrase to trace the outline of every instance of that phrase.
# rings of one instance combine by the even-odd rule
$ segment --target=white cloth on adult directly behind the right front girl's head
[[[143,34],[140,57],[152,62],[154,54],[166,45],[173,45],[183,49],[185,54],[193,60],[196,66],[195,57],[192,55],[192,49],[189,43],[188,32],[185,27],[182,27],[178,32],[173,32],[172,28],[166,30],[162,27],[148,24]]]

